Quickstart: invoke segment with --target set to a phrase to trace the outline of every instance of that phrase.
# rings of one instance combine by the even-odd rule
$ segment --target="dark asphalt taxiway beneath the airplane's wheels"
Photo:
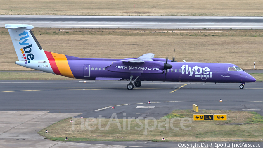
[[[242,110],[263,115],[263,82],[245,84],[142,82],[127,90],[127,81],[0,81],[1,111],[50,111],[83,113],[110,118],[154,117],[159,119],[174,109]],[[186,85],[185,85],[186,84]],[[177,88],[184,87],[176,90]],[[176,90],[176,91],[173,91]],[[219,102],[222,99],[223,102]],[[152,104],[147,104],[151,101]],[[115,109],[105,108],[115,106]],[[136,108],[155,106],[154,108]],[[105,108],[105,109],[103,109]],[[255,110],[256,109],[256,110]],[[78,117],[78,116],[76,116]]]

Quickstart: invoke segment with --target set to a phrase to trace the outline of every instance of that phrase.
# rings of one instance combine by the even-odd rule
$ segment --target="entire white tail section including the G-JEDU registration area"
[[[15,61],[17,65],[54,73],[44,50],[31,31],[34,28],[32,25],[5,24],[5,28],[8,29],[15,47],[19,60]]]

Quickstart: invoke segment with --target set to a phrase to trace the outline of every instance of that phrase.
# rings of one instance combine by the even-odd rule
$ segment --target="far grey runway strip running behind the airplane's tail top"
[[[53,28],[262,29],[263,17],[0,16],[0,27],[22,23]]]

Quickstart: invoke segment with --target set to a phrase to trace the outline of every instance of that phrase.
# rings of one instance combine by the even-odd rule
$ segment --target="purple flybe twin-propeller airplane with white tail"
[[[256,79],[231,63],[176,62],[143,54],[139,58],[78,58],[44,51],[32,33],[32,25],[5,24],[15,47],[16,64],[27,68],[84,80],[127,80],[127,89],[141,81],[241,83]]]

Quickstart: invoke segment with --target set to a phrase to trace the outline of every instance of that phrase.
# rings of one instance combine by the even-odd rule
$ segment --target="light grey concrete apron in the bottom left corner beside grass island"
[[[81,113],[0,111],[0,147],[104,147],[103,145],[51,141],[37,134],[41,129],[57,121],[79,114]]]

